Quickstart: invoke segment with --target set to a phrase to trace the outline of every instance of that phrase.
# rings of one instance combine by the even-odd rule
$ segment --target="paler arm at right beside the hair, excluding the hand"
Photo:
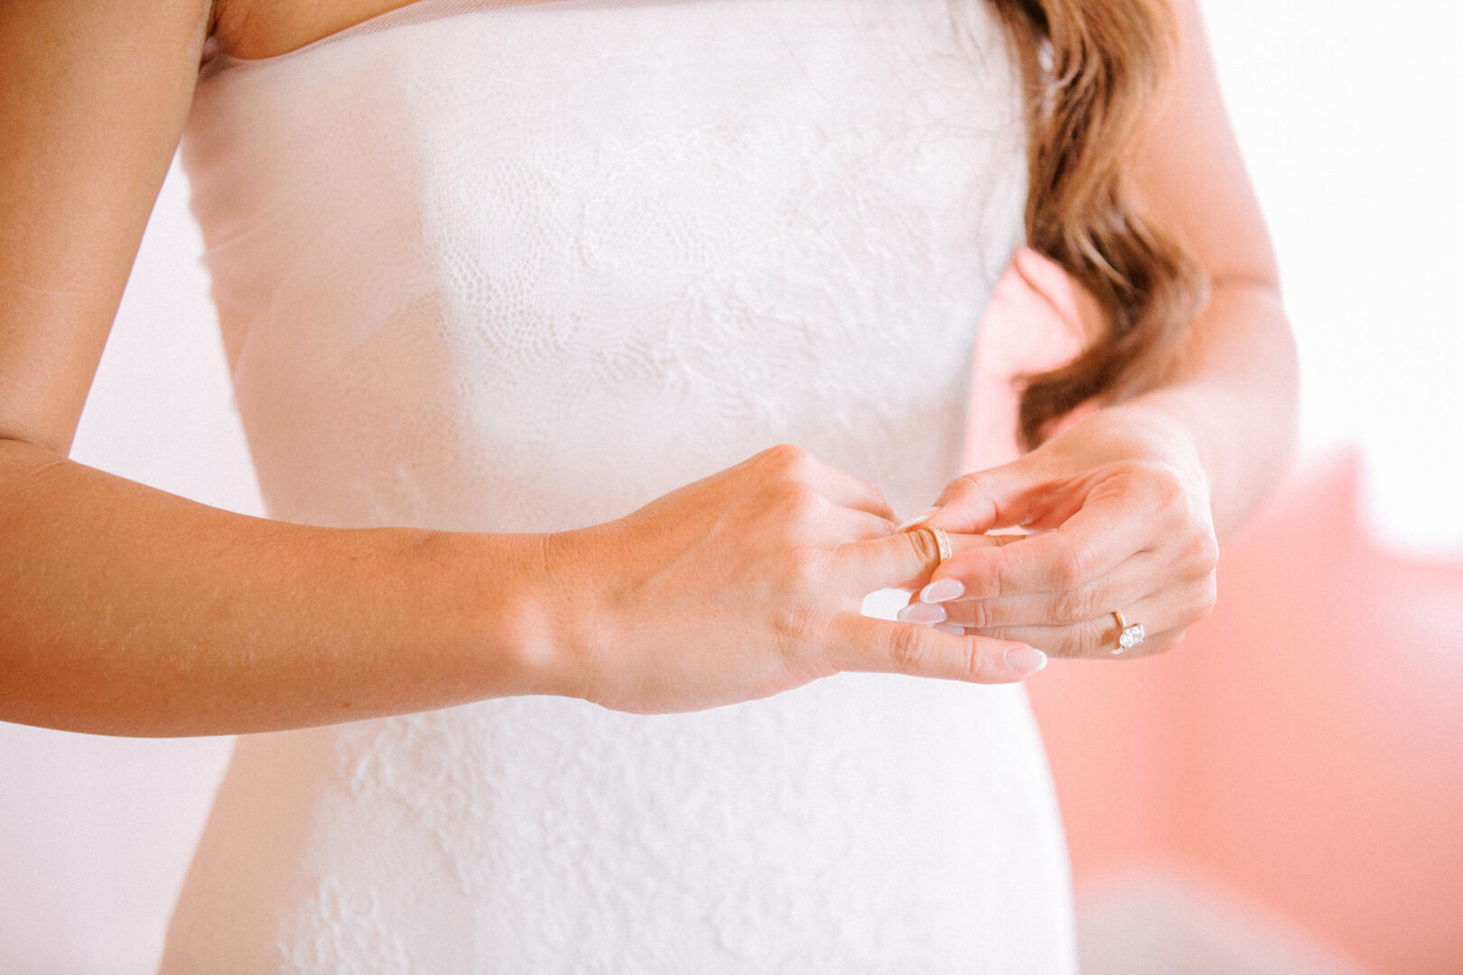
[[[1175,0],[1176,76],[1135,183],[1148,212],[1184,240],[1211,298],[1188,333],[1175,382],[1129,401],[1192,436],[1214,528],[1229,536],[1289,468],[1296,441],[1295,341],[1280,303],[1274,250],[1239,146],[1195,0]]]

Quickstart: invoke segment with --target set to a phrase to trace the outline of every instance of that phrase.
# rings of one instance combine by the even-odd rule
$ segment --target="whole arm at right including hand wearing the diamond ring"
[[[1178,368],[1151,392],[1094,409],[1036,450],[951,482],[917,522],[967,539],[901,614],[1024,640],[1053,656],[1109,658],[1113,611],[1143,623],[1128,656],[1162,652],[1214,604],[1217,542],[1279,484],[1296,441],[1298,365],[1260,205],[1219,92],[1195,0],[1176,0],[1179,60],[1141,145],[1144,210],[1210,279]],[[1037,289],[1055,265],[1026,254]],[[1024,265],[1024,266],[1023,266]],[[1045,265],[1045,269],[1040,266]],[[1045,276],[1045,281],[1043,281]],[[1078,300],[1080,317],[1094,304]]]

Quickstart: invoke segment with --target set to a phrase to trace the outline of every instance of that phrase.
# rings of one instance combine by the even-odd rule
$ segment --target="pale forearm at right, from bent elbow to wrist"
[[[1290,465],[1298,386],[1295,341],[1279,292],[1222,279],[1189,329],[1172,380],[1113,409],[1151,421],[1160,437],[1191,444],[1223,541]]]

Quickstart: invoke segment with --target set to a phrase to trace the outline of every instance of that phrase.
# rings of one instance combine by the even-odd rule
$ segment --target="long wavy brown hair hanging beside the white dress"
[[[1021,377],[1018,434],[1030,449],[1083,402],[1160,384],[1207,284],[1178,240],[1135,209],[1128,186],[1132,151],[1178,50],[1166,0],[989,1],[1026,82],[1027,244],[1106,313],[1105,332],[1081,355]]]

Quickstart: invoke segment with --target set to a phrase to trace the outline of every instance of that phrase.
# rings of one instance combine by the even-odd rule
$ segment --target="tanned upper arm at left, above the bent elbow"
[[[208,0],[0,0],[0,437],[69,450],[208,25]]]

